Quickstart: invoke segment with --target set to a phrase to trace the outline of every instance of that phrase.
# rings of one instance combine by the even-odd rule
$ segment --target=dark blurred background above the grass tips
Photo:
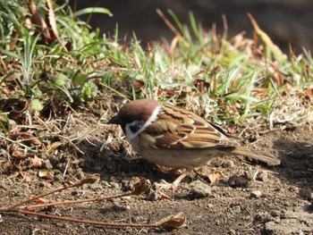
[[[59,0],[58,2],[62,2]],[[167,9],[171,9],[182,23],[189,23],[189,11],[205,29],[211,29],[216,23],[218,33],[223,33],[222,15],[227,20],[227,38],[246,32],[252,38],[252,25],[247,16],[251,13],[261,29],[265,30],[276,45],[289,52],[292,44],[296,54],[302,53],[302,47],[313,48],[313,0],[70,0],[73,10],[97,6],[106,7],[114,16],[94,13],[89,19],[93,29],[114,35],[118,22],[119,38],[132,37],[135,32],[141,40],[141,46],[148,41],[166,38],[171,41],[173,32],[157,14],[159,8],[171,19]],[[88,15],[80,17],[87,20]]]

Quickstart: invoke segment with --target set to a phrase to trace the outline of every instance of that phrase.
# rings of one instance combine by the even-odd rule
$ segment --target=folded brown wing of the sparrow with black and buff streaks
[[[155,147],[173,149],[219,148],[239,146],[224,132],[217,130],[194,113],[164,105],[154,125],[148,126],[147,134],[157,136]]]

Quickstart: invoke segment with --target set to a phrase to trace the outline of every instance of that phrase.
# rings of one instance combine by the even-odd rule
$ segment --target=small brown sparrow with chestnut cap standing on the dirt
[[[173,181],[173,188],[193,169],[224,155],[245,155],[266,164],[280,164],[273,156],[241,147],[221,127],[199,115],[154,99],[128,102],[108,123],[120,125],[131,147],[148,162],[185,169]]]

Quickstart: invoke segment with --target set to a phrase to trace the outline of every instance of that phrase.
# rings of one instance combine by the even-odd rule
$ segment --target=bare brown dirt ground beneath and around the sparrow
[[[114,104],[114,103],[113,103]],[[116,105],[118,106],[118,105]],[[50,201],[114,196],[131,189],[144,177],[152,183],[171,181],[175,176],[157,168],[131,152],[121,130],[105,123],[116,106],[97,107],[107,113],[89,113],[87,109],[67,113],[66,124],[59,119],[41,123],[38,135],[63,142],[52,153],[42,153],[41,168],[54,173],[53,180],[38,177],[38,169],[25,169],[30,176],[10,177],[10,166],[22,164],[3,155],[0,163],[0,207],[59,188],[97,173],[100,181],[76,189],[67,189]],[[95,106],[93,106],[95,108]],[[96,109],[96,108],[95,108]],[[59,132],[55,126],[59,125]],[[182,212],[187,224],[179,231],[116,228],[78,222],[49,220],[23,214],[0,214],[1,234],[312,234],[313,206],[313,135],[309,122],[300,126],[277,125],[272,130],[264,121],[232,127],[234,134],[246,139],[245,145],[282,159],[280,166],[268,167],[244,157],[224,157],[202,167],[184,179],[181,187],[162,189],[172,200],[157,197],[153,186],[150,197],[126,197],[104,202],[55,206],[47,214],[71,216],[101,222],[157,222],[169,214]],[[248,128],[247,128],[248,125]],[[113,139],[111,139],[113,137]],[[107,141],[106,141],[107,140]],[[258,140],[253,145],[251,141]],[[107,142],[103,146],[104,142]],[[4,150],[4,149],[2,149]],[[4,153],[4,151],[3,151]],[[205,175],[220,174],[211,184]],[[64,176],[63,176],[64,174]],[[241,181],[228,180],[239,177]],[[237,178],[238,178],[237,177]],[[253,197],[260,191],[260,197]]]

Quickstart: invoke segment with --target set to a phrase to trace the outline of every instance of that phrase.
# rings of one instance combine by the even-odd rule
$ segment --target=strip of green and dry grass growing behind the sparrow
[[[157,10],[173,40],[143,49],[136,35],[120,39],[118,26],[111,38],[79,19],[93,13],[109,17],[106,8],[73,13],[67,4],[14,0],[0,2],[0,10],[3,98],[32,98],[37,111],[111,93],[172,102],[224,123],[268,119],[278,112],[276,100],[297,97],[303,108],[311,100],[310,53],[294,55],[291,49],[283,55],[250,14],[261,44],[242,33],[227,39],[226,31],[206,31],[193,13],[184,25],[172,11],[167,17]]]

